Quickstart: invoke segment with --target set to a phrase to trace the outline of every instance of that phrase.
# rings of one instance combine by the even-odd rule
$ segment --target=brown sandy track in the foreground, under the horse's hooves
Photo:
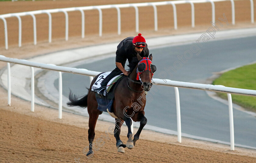
[[[101,135],[109,138],[102,138],[105,144],[95,145],[98,151],[94,151],[92,158],[87,158],[83,154],[83,149],[88,146],[87,118],[65,113],[59,120],[53,118],[57,110],[43,108],[36,113],[27,111],[25,115],[13,110],[16,108],[0,110],[1,162],[75,162],[75,158],[80,158],[80,162],[254,163],[256,160],[255,151],[230,151],[227,146],[189,139],[183,139],[179,144],[174,136],[146,130],[142,131],[134,149],[125,148],[126,153],[121,154],[117,152],[114,136],[108,132],[108,127],[114,124],[107,122],[97,124],[95,140],[102,138]],[[48,118],[42,114],[48,114]],[[53,119],[45,120],[50,117]],[[120,138],[125,142],[126,127],[122,130]]]

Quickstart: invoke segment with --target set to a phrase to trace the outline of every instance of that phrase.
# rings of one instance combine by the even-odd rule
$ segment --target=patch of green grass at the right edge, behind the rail
[[[256,64],[243,66],[235,70],[223,73],[214,80],[213,85],[223,85],[226,87],[243,88],[256,90]],[[225,93],[218,93],[222,98],[227,99]],[[232,101],[242,107],[256,111],[256,97],[232,95]]]

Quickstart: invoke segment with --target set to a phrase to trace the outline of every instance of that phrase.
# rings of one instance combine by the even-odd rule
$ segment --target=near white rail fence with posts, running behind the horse
[[[31,67],[31,111],[33,112],[34,112],[34,67],[59,71],[59,118],[60,119],[62,118],[62,72],[87,75],[87,76],[90,76],[90,81],[93,79],[92,76],[96,76],[100,73],[100,72],[90,71],[86,69],[56,66],[53,64],[35,63],[35,62],[30,62],[24,59],[7,58],[5,56],[0,56],[0,61],[7,62],[8,105],[11,105],[10,63],[16,63],[16,64],[21,64],[21,65]],[[174,87],[175,96],[176,96],[176,111],[177,111],[177,131],[178,131],[177,135],[178,135],[179,142],[181,142],[181,118],[180,118],[180,96],[179,96],[178,87],[227,93],[228,103],[229,103],[230,148],[231,150],[234,150],[233,106],[232,106],[232,98],[230,93],[256,97],[256,90],[231,88],[231,87],[224,87],[220,85],[211,85],[211,84],[187,83],[187,82],[163,80],[163,79],[153,79],[153,83],[157,85]]]

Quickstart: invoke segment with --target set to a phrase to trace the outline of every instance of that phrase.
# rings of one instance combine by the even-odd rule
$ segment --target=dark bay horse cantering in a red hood
[[[114,90],[114,101],[112,107],[114,110],[113,113],[117,118],[115,118],[116,126],[113,134],[116,138],[116,147],[118,148],[118,152],[125,153],[125,147],[133,149],[136,141],[140,137],[143,127],[147,123],[147,118],[144,116],[146,91],[149,91],[152,87],[151,80],[154,72],[156,71],[156,66],[151,63],[152,58],[152,54],[150,54],[148,58],[142,58],[137,54],[137,57],[134,57],[128,65],[130,68],[129,76],[122,78]],[[69,107],[87,107],[89,114],[88,140],[90,144],[87,156],[93,154],[92,144],[95,136],[94,129],[98,116],[102,114],[102,111],[97,109],[98,103],[96,101],[95,92],[91,90],[92,85],[99,75],[100,74],[94,77],[91,82],[90,89],[88,89],[88,94],[84,97],[77,98],[70,90],[69,102],[67,103]],[[133,139],[131,131],[132,120],[135,122],[140,121],[140,127]],[[125,122],[128,127],[128,141],[126,144],[123,144],[119,137],[123,122]]]

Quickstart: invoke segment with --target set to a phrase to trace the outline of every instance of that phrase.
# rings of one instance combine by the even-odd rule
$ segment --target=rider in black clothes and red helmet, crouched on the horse
[[[146,44],[146,40],[139,33],[136,37],[127,37],[123,41],[119,43],[116,50],[116,68],[101,82],[101,87],[103,89],[97,90],[97,93],[100,97],[103,97],[105,87],[108,82],[116,75],[124,73],[124,75],[129,76],[130,72],[124,69],[126,60],[128,62],[132,61],[133,57],[137,57],[137,53],[140,54],[141,57],[148,57],[149,50],[148,45]]]

